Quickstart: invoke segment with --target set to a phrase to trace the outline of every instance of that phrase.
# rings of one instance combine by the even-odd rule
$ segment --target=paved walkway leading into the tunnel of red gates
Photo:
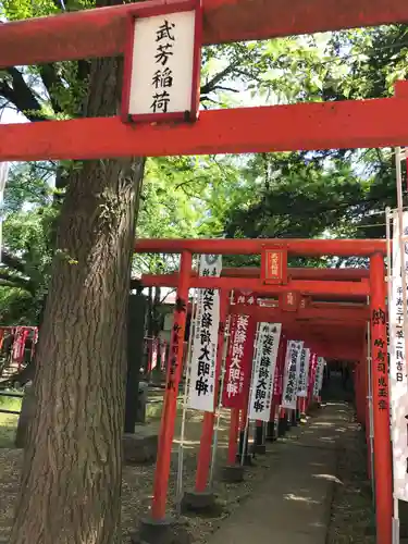
[[[325,544],[349,408],[332,401],[270,446],[274,468],[209,544]]]

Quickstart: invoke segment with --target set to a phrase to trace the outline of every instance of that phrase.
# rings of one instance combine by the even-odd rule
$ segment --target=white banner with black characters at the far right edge
[[[408,213],[404,213],[404,234],[408,231]],[[408,254],[408,244],[404,244]],[[406,258],[406,257],[405,257]],[[408,274],[406,273],[407,282]],[[408,380],[405,357],[404,304],[398,215],[393,217],[393,267],[390,311],[390,403],[392,413],[394,496],[408,502]],[[376,384],[375,384],[376,385]]]

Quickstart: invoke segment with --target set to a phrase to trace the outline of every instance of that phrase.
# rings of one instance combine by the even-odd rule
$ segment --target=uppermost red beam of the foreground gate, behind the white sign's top
[[[150,1],[162,5],[174,0]],[[177,0],[175,0],[177,1]],[[401,0],[203,0],[203,42],[405,23]],[[0,66],[113,57],[123,53],[134,4],[86,10],[1,25]]]

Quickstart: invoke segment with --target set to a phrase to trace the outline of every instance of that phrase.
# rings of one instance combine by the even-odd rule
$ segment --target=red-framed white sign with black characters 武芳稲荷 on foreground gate
[[[199,0],[146,2],[131,12],[122,121],[196,121],[202,45]]]

